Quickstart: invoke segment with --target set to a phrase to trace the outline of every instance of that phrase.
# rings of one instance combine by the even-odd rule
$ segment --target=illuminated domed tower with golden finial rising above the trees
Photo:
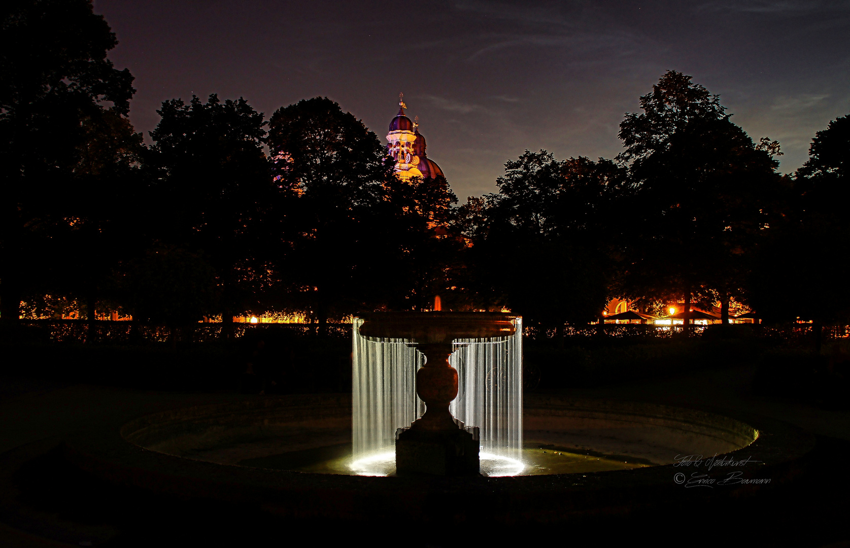
[[[387,151],[395,160],[395,172],[402,180],[414,177],[445,178],[437,163],[425,153],[425,137],[419,133],[419,116],[415,121],[405,116],[404,97],[399,93],[399,114],[389,123]]]

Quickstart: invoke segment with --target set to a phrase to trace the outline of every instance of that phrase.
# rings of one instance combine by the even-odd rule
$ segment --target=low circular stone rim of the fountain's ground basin
[[[174,406],[145,415],[118,415],[99,427],[65,439],[63,455],[74,466],[122,488],[141,489],[156,496],[206,500],[215,504],[247,504],[271,515],[289,518],[341,519],[348,523],[387,519],[416,523],[445,523],[445,511],[434,513],[431,501],[450,496],[459,510],[450,516],[456,524],[571,523],[581,516],[621,515],[639,507],[665,508],[686,503],[690,493],[672,482],[672,465],[634,470],[519,477],[361,477],[286,472],[247,466],[225,466],[203,460],[157,453],[127,441],[139,421],[178,419],[185,410],[218,408],[269,409],[300,407],[326,410],[328,404],[350,405],[349,394],[292,395],[282,398],[241,397],[222,404]],[[592,400],[583,400],[592,401]],[[574,398],[547,398],[525,409],[575,408]],[[615,405],[616,403],[611,403]],[[667,407],[667,406],[660,406]],[[717,415],[717,410],[676,408]],[[712,413],[713,411],[713,413]],[[728,417],[728,414],[720,415]],[[814,447],[815,438],[799,428],[761,415],[733,413],[736,420],[762,432],[754,443],[728,455],[750,454],[764,461],[764,471],[777,481],[791,481],[797,464]],[[785,479],[783,479],[785,478]],[[742,491],[743,489],[743,491]],[[718,491],[712,496],[739,496],[760,492],[746,487]],[[494,506],[494,503],[495,506]],[[626,510],[624,510],[626,509]],[[371,521],[370,521],[371,520]]]

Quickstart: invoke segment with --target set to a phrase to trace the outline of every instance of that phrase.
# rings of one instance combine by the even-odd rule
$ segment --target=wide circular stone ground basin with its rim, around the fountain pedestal
[[[526,439],[539,445],[530,450],[547,450],[546,455],[552,455],[548,452],[552,449],[562,449],[555,453],[572,449],[572,455],[624,456],[644,460],[636,461],[641,466],[424,479],[238,464],[344,445],[350,437],[350,409],[348,395],[246,398],[189,407],[139,417],[119,431],[81,433],[66,441],[65,456],[83,470],[124,487],[182,500],[255,506],[286,519],[381,523],[404,519],[445,525],[567,523],[582,516],[676,504],[693,492],[673,481],[680,470],[673,465],[677,454],[707,457],[734,449],[726,455],[761,461],[745,468],[745,474],[770,477],[776,485],[793,476],[797,460],[814,444],[805,432],[757,416],[730,418],[662,405],[537,398],[526,402],[524,412]],[[756,438],[757,430],[761,434]],[[739,485],[711,494],[740,497],[758,489],[770,486]],[[452,501],[450,515],[433,506],[435,497]]]

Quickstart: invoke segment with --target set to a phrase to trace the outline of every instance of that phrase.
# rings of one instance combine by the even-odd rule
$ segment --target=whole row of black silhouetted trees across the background
[[[781,175],[719,97],[668,71],[626,114],[613,160],[507,161],[458,205],[404,182],[375,133],[326,98],[263,116],[244,99],[172,99],[143,143],[133,76],[91,4],[2,8],[3,322],[121,311],[187,325],[300,312],[508,308],[541,326],[612,297],[748,306],[766,321],[847,321],[850,116]],[[49,299],[45,296],[50,296]],[[225,330],[227,332],[227,330]]]

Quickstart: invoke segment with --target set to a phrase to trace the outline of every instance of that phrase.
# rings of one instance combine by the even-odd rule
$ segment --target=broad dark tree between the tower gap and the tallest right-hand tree
[[[499,193],[475,211],[474,257],[479,285],[499,288],[513,311],[541,325],[586,323],[604,307],[609,271],[605,218],[626,172],[611,161],[556,161],[545,150],[525,151],[505,164]],[[517,268],[512,265],[521,265]]]

